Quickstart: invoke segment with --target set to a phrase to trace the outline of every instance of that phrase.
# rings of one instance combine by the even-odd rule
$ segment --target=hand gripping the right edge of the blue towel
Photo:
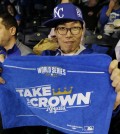
[[[120,69],[118,68],[118,61],[113,60],[109,66],[109,73],[111,74],[112,86],[117,93],[114,109],[120,105]]]

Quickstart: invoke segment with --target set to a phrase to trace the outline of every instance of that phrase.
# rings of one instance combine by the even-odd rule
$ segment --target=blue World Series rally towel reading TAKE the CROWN
[[[68,134],[107,134],[115,101],[102,54],[23,56],[3,63],[4,128],[48,126]]]

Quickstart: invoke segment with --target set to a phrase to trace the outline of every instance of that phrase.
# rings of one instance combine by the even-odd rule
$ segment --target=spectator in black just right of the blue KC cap
[[[99,20],[99,12],[101,10],[99,0],[88,0],[85,4],[80,4],[79,7],[85,21],[86,35],[95,33]]]

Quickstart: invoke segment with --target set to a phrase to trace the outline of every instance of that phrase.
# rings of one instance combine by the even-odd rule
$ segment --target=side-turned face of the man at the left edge
[[[5,28],[5,26],[2,24],[2,18],[0,18],[0,46],[6,46],[10,41],[10,38],[10,30]]]

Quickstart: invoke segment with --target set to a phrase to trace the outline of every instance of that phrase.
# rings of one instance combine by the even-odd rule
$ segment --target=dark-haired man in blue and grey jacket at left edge
[[[9,13],[0,14],[0,54],[4,57],[28,55],[32,50],[17,39],[18,25]]]

